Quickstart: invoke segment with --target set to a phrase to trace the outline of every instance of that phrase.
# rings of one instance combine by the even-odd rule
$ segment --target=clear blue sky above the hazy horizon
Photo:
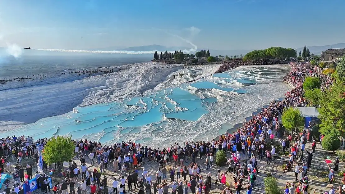
[[[0,47],[235,50],[345,42],[344,0],[0,0]]]

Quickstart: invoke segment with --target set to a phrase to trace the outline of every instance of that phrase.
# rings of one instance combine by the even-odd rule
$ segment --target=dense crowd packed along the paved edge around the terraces
[[[220,68],[219,72],[226,71],[229,68],[235,68],[236,65],[246,65],[241,60],[238,63],[229,63]],[[251,62],[250,64],[265,63],[265,61]],[[235,66],[234,66],[235,65]],[[239,65],[238,65],[239,66]],[[244,123],[242,127],[234,133],[226,133],[219,136],[218,139],[200,142],[184,142],[183,144],[175,143],[167,148],[152,148],[143,146],[135,142],[118,142],[113,145],[102,145],[100,142],[88,140],[73,140],[75,143],[75,161],[69,161],[68,167],[65,168],[58,176],[63,177],[61,183],[55,183],[52,191],[57,193],[75,194],[75,183],[80,182],[81,186],[77,187],[78,194],[86,194],[87,186],[91,188],[91,194],[108,194],[108,186],[112,187],[113,194],[125,194],[127,185],[128,190],[138,188],[139,194],[154,193],[167,194],[169,188],[172,194],[208,194],[214,184],[220,183],[224,188],[222,193],[231,194],[233,189],[237,194],[246,190],[248,194],[255,187],[256,175],[259,173],[258,161],[266,160],[269,164],[274,160],[276,153],[287,151],[289,159],[287,160],[285,172],[292,171],[295,168],[295,183],[287,182],[285,194],[293,194],[296,190],[298,193],[308,192],[308,169],[311,168],[313,153],[315,152],[315,140],[312,140],[309,130],[303,133],[292,134],[286,138],[281,138],[279,142],[276,136],[279,134],[281,124],[278,115],[284,111],[287,106],[305,106],[307,101],[303,98],[302,84],[305,76],[319,76],[322,80],[323,87],[332,84],[332,78],[321,73],[318,67],[310,66],[309,63],[290,63],[291,72],[284,78],[284,81],[291,83],[295,88],[288,92],[283,101],[273,101],[267,108],[253,115],[253,118]],[[305,126],[308,128],[311,126]],[[26,182],[24,171],[27,172],[27,179],[33,177],[32,165],[22,165],[25,158],[34,158],[38,160],[38,149],[44,149],[45,144],[49,141],[47,138],[34,141],[27,136],[12,136],[1,139],[0,171],[12,173],[14,180]],[[282,145],[281,150],[276,150],[275,145]],[[313,151],[305,149],[307,143],[312,143]],[[217,174],[202,172],[209,170],[214,166],[214,156],[217,151],[224,150],[227,153],[228,166],[227,171]],[[306,160],[304,152],[307,152]],[[241,158],[248,159],[243,161]],[[297,162],[298,157],[300,162]],[[11,158],[16,159],[16,167],[11,169]],[[145,168],[141,169],[144,160],[157,162],[155,174],[150,174]],[[87,167],[87,164],[93,165],[98,163],[98,168]],[[206,163],[206,169],[200,167],[200,163]],[[102,172],[112,165],[119,173],[119,177],[114,177],[112,185],[107,185],[107,177],[102,177]],[[25,169],[24,169],[25,167]],[[43,159],[43,169],[55,171],[56,165],[46,164]],[[157,170],[157,171],[156,171]],[[337,169],[330,168],[330,182],[334,179],[334,171]],[[332,174],[333,172],[333,174]],[[226,175],[231,176],[227,179]],[[206,175],[206,176],[204,176]],[[44,174],[36,172],[34,177],[38,178],[38,186],[42,191],[49,192],[49,180]],[[215,180],[212,184],[212,179]],[[69,187],[69,190],[68,190]],[[7,187],[6,187],[7,188]],[[7,194],[9,190],[6,190]],[[14,193],[12,193],[14,194]],[[330,193],[333,194],[333,193]]]

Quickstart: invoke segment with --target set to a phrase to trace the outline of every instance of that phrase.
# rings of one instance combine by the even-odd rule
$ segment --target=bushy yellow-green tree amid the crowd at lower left
[[[45,145],[42,155],[48,164],[56,163],[58,171],[61,172],[63,162],[74,157],[74,148],[71,137],[52,137]]]

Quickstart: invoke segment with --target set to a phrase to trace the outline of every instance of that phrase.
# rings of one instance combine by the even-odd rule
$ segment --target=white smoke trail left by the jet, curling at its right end
[[[172,35],[172,34],[171,34]],[[178,35],[173,35],[185,42],[187,42],[188,44],[192,45],[193,48],[189,49],[189,50],[183,50],[182,52],[184,53],[190,53],[190,52],[195,52],[198,47],[197,45],[191,43],[190,41],[178,36]],[[156,50],[154,51],[93,51],[93,50],[70,50],[70,49],[34,49],[34,50],[41,50],[41,51],[56,51],[56,52],[78,52],[78,53],[108,53],[108,54],[153,54],[156,52]],[[165,52],[165,51],[157,51],[159,52]]]

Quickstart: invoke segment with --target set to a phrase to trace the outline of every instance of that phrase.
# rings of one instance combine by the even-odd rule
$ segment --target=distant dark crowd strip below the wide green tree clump
[[[257,59],[257,60],[244,61],[243,59],[231,59],[231,60],[225,60],[215,73],[223,73],[225,71],[229,71],[231,69],[235,69],[243,65],[272,65],[272,64],[283,64],[283,63],[286,63],[286,61],[269,60],[269,59]]]

